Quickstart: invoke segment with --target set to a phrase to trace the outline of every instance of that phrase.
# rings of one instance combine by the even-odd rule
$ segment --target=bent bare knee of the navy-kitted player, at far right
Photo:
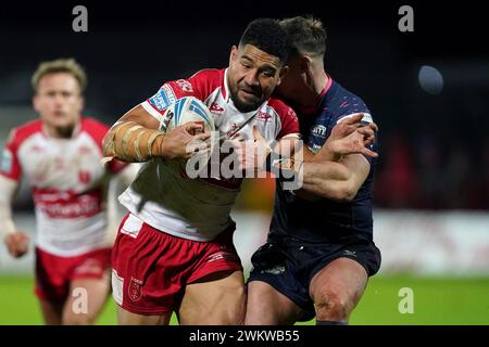
[[[310,295],[316,306],[333,300],[341,303],[349,314],[362,297],[367,281],[362,265],[350,258],[338,258],[313,277]]]

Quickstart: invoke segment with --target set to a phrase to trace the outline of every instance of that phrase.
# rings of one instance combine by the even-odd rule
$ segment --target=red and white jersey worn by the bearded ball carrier
[[[292,108],[268,99],[258,110],[238,111],[229,98],[227,69],[204,69],[188,79],[163,85],[142,107],[162,123],[164,111],[176,100],[195,97],[210,110],[216,130],[231,134],[252,117],[233,139],[253,139],[255,125],[267,140],[299,133]],[[175,236],[209,241],[233,223],[230,210],[242,179],[190,179],[175,160],[154,158],[143,165],[120,202],[146,223]]]

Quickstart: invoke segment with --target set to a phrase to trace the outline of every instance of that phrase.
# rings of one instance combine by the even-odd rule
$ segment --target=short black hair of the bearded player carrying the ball
[[[258,18],[248,24],[239,46],[252,44],[285,63],[292,49],[289,37],[277,20]]]

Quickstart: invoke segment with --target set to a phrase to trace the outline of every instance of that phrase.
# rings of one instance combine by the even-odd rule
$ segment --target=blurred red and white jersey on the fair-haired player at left
[[[0,175],[26,176],[34,194],[39,248],[57,256],[77,256],[106,246],[105,194],[110,171],[126,164],[101,165],[102,139],[109,127],[82,118],[71,139],[49,138],[41,120],[11,131]]]

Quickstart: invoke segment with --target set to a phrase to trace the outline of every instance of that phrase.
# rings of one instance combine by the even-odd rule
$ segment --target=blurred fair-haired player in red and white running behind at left
[[[27,253],[28,234],[16,228],[11,210],[24,174],[36,210],[35,293],[45,322],[90,324],[110,293],[115,233],[109,216],[115,216],[108,211],[109,181],[116,174],[130,183],[135,167],[117,160],[101,165],[109,127],[82,116],[87,77],[74,60],[41,63],[32,83],[40,119],[12,129],[3,150],[0,232],[13,257]],[[74,309],[82,297],[86,306]]]

